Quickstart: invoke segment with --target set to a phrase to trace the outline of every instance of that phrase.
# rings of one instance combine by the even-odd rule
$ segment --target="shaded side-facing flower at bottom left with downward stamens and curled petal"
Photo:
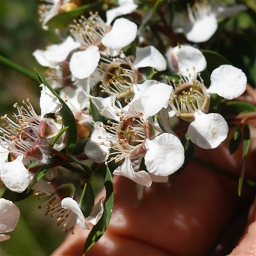
[[[100,199],[94,205],[92,212],[85,220],[79,203],[77,203],[81,197],[79,193],[79,191],[81,192],[79,178],[76,173],[62,172],[61,170],[63,169],[61,167],[55,169],[58,170],[58,174],[51,183],[41,179],[33,186],[38,199],[51,196],[44,204],[39,206],[39,209],[46,205],[47,211],[45,215],[50,215],[52,218],[56,217],[58,220],[57,225],[62,225],[65,232],[71,231],[74,234],[76,224],[81,228],[90,229],[86,220],[93,225],[99,221],[103,214],[102,200]]]

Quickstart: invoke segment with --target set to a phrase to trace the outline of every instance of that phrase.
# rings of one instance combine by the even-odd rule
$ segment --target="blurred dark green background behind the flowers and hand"
[[[38,3],[39,0],[0,2],[0,54],[32,72],[34,67],[44,72],[44,68],[36,62],[32,52],[36,49],[45,49],[49,42],[58,43],[58,37],[53,31],[42,29],[38,21]],[[239,13],[225,24],[229,29],[225,44],[220,47],[212,38],[211,45],[212,50],[219,51],[236,67],[242,68],[249,83],[255,87],[256,0],[243,3],[251,9]],[[36,112],[40,113],[39,84],[3,63],[0,65],[0,115],[11,114],[12,105],[15,102],[21,103],[22,99],[28,97]],[[12,238],[0,243],[1,256],[50,255],[63,241],[66,234],[61,227],[56,226],[56,219],[45,216],[45,209],[38,209],[39,204],[43,204],[43,200],[38,201],[36,196],[17,202],[21,213],[20,220],[15,230],[10,233]]]

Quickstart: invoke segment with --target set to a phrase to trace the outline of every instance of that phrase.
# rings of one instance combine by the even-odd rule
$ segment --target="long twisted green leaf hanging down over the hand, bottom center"
[[[106,174],[104,177],[104,186],[106,188],[106,199],[104,202],[104,212],[98,223],[92,228],[89,236],[86,239],[84,244],[84,254],[92,248],[100,237],[105,233],[108,228],[109,221],[111,218],[111,212],[114,204],[114,189],[113,189],[113,180],[111,172],[109,171],[108,166],[106,166]]]

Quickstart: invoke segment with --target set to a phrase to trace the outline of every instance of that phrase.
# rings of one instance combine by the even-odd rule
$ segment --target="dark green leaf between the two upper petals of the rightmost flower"
[[[223,64],[229,64],[230,62],[218,52],[210,50],[201,50],[207,61],[207,70],[211,73],[215,68],[220,67]]]

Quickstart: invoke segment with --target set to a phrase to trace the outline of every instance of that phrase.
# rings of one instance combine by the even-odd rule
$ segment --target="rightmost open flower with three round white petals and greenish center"
[[[227,138],[228,125],[225,119],[217,113],[208,113],[211,93],[217,93],[225,99],[239,97],[246,89],[246,76],[239,68],[231,65],[221,65],[211,74],[211,86],[206,88],[200,71],[206,67],[206,60],[199,50],[185,46],[177,52],[179,61],[179,83],[173,82],[175,90],[168,100],[172,111],[170,115],[191,122],[188,127],[190,140],[201,148],[216,148]],[[199,77],[199,78],[197,78]],[[145,90],[143,102],[150,104],[154,95],[159,93],[165,97],[171,86],[157,84]],[[164,98],[163,98],[164,99]],[[159,102],[159,108],[166,101]],[[150,115],[150,113],[148,114]]]

